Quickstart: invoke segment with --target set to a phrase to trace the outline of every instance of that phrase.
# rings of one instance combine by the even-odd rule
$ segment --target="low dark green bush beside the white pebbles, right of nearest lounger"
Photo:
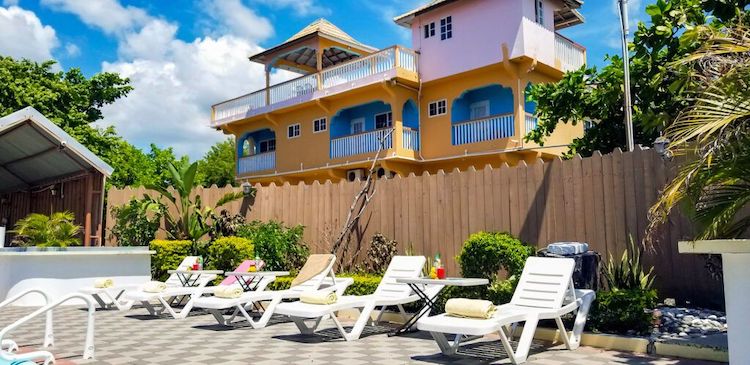
[[[651,328],[656,290],[614,289],[596,293],[587,327],[596,332],[646,334]]]

